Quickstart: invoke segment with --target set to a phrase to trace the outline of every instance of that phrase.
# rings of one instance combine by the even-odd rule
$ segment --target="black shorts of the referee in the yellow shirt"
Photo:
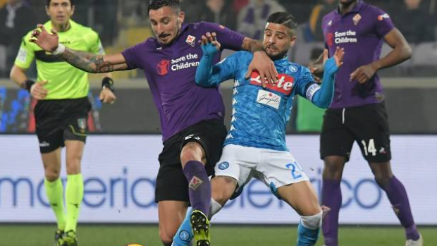
[[[65,140],[85,142],[90,109],[87,97],[39,100],[34,111],[39,151],[49,153],[64,147]]]

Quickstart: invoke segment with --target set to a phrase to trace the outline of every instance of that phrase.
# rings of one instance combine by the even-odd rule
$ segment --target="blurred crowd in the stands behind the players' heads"
[[[338,0],[183,0],[186,22],[209,21],[226,25],[248,37],[261,39],[267,16],[289,11],[299,24],[296,52],[290,59],[307,64],[323,48],[321,18],[338,6]],[[383,8],[417,51],[404,66],[390,75],[436,74],[436,0],[387,0],[367,2]],[[20,39],[48,20],[45,0],[0,0],[0,76],[7,77]],[[144,0],[76,0],[73,20],[99,32],[107,50],[123,49],[152,35]],[[383,51],[384,52],[384,51]],[[430,56],[435,55],[433,60]],[[420,66],[415,70],[413,67]],[[423,67],[431,67],[424,70]]]

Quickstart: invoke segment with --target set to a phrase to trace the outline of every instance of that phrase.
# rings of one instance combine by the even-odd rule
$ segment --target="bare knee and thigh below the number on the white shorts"
[[[312,216],[321,211],[316,192],[307,180],[278,187],[278,195],[301,216]]]

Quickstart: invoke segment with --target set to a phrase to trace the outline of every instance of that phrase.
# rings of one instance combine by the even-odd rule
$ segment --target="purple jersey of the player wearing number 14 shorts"
[[[332,109],[381,102],[382,85],[378,75],[359,85],[350,81],[350,74],[359,66],[379,59],[383,37],[393,30],[390,16],[381,9],[359,0],[344,16],[336,9],[322,20],[325,44],[332,56],[336,47],[345,48],[343,66],[336,74],[336,92]]]

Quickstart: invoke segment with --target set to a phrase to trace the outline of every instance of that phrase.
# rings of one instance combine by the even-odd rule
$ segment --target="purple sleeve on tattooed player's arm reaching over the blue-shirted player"
[[[205,33],[216,32],[217,40],[221,44],[221,49],[241,50],[242,41],[245,36],[239,32],[230,30],[223,25],[217,25],[216,23],[204,23]]]

